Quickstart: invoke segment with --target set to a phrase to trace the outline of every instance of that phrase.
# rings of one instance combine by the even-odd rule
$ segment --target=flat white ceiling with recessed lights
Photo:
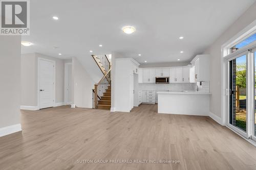
[[[140,63],[190,61],[204,52],[255,0],[108,0],[30,1],[34,45],[22,53],[83,61],[95,54],[119,52]],[[58,16],[59,20],[53,20]],[[136,32],[124,34],[123,26]],[[184,36],[183,40],[179,37]],[[102,47],[99,47],[102,44]],[[53,49],[53,46],[59,48]],[[180,51],[184,51],[183,54]],[[61,56],[57,54],[61,53]],[[141,57],[138,54],[142,54]]]

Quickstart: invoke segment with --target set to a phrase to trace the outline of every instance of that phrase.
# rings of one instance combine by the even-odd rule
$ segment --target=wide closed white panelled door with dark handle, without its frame
[[[39,109],[54,106],[54,62],[38,59]]]

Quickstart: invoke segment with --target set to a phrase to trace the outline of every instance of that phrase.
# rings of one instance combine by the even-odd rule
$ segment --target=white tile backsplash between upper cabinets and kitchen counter
[[[209,82],[202,82],[202,85],[198,83],[199,91],[209,92]],[[171,83],[171,84],[139,84],[139,90],[170,90],[170,91],[182,91],[182,90],[196,90],[196,83]]]

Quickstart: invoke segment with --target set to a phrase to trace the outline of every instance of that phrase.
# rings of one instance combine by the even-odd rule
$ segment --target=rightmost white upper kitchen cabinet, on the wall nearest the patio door
[[[193,60],[195,65],[195,81],[209,81],[210,80],[210,56],[197,55]]]

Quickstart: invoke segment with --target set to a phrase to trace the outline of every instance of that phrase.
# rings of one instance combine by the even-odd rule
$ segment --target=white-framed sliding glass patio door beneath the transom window
[[[256,48],[228,59],[229,124],[256,141]]]

